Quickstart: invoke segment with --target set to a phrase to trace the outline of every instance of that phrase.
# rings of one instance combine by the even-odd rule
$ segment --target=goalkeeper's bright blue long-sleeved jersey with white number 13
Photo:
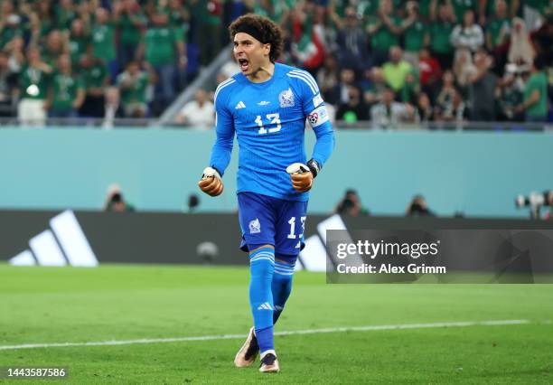
[[[211,166],[222,175],[229,165],[234,136],[239,144],[238,192],[257,192],[289,201],[307,201],[295,192],[286,167],[305,164],[305,122],[317,142],[312,157],[323,166],[334,136],[323,98],[305,70],[276,63],[273,76],[253,83],[242,73],[215,91],[217,140]]]

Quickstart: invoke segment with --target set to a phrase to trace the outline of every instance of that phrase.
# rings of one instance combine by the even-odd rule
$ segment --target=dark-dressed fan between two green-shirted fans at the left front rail
[[[86,98],[80,107],[81,117],[103,117],[104,89],[108,86],[108,71],[102,61],[91,57],[88,53],[80,56],[80,70]]]

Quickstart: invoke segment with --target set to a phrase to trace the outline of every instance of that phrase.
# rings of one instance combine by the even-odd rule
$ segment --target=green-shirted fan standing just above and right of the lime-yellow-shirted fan
[[[413,67],[417,68],[418,52],[428,45],[430,35],[428,34],[428,25],[418,12],[418,3],[408,1],[407,11],[408,17],[401,23],[405,45],[404,58]]]

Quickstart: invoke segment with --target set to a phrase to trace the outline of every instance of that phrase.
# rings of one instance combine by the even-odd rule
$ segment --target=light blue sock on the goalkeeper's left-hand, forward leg
[[[260,352],[274,350],[273,293],[275,249],[262,248],[249,254],[249,305],[254,319]]]

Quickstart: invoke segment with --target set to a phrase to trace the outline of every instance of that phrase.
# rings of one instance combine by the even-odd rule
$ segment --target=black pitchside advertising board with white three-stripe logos
[[[247,265],[236,214],[0,211],[0,260]],[[328,283],[553,283],[553,221],[311,215],[297,269]]]

